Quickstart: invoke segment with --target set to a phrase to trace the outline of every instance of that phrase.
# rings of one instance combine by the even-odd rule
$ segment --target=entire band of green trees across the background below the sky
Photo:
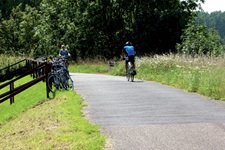
[[[204,0],[1,0],[0,54],[118,58],[126,41],[138,56],[221,55],[225,13]],[[207,28],[208,27],[208,28]]]

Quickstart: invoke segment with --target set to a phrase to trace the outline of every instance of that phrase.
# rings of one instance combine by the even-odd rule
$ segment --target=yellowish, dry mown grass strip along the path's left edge
[[[83,118],[81,97],[74,91],[36,105],[3,125],[0,147],[5,149],[99,150],[105,138],[99,127]]]

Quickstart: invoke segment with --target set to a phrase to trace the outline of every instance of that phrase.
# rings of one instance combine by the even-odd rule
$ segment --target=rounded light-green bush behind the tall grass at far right
[[[197,26],[194,21],[188,24],[182,39],[182,44],[177,44],[177,49],[182,54],[219,56],[224,51],[218,32],[208,30],[205,25]]]

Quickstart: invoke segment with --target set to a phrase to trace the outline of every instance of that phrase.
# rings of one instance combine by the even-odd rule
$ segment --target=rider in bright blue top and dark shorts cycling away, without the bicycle
[[[128,62],[132,63],[134,67],[134,71],[135,71],[135,59],[134,59],[135,51],[134,51],[134,46],[132,45],[130,41],[126,42],[125,46],[123,47],[122,57],[123,59],[125,59],[126,74],[128,71]]]

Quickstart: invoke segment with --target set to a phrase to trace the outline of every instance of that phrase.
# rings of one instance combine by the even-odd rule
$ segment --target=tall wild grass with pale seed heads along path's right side
[[[137,78],[157,81],[212,99],[225,100],[225,60],[218,57],[156,55],[136,60]],[[124,74],[124,62],[111,74]]]

